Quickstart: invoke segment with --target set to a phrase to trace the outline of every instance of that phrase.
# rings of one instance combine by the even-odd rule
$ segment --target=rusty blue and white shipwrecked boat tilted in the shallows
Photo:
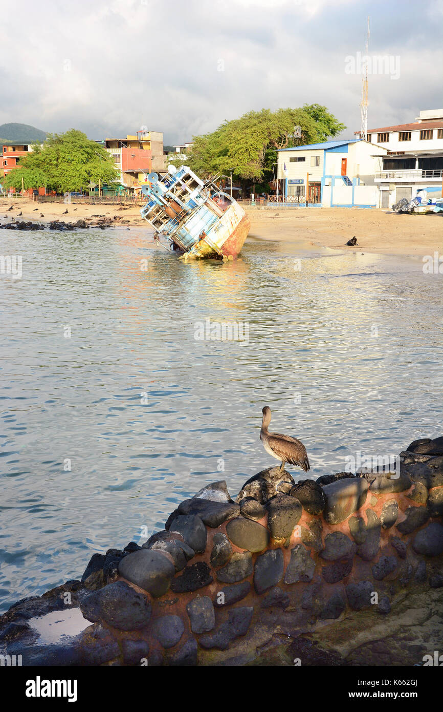
[[[140,214],[154,228],[154,242],[184,258],[237,257],[250,220],[242,207],[213,180],[202,181],[187,166],[150,173],[142,187],[148,199]]]

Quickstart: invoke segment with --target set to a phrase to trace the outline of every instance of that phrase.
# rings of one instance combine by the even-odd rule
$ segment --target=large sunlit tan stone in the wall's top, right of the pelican
[[[358,511],[366,501],[368,488],[368,481],[363,477],[343,478],[325,485],[325,521],[339,524]]]

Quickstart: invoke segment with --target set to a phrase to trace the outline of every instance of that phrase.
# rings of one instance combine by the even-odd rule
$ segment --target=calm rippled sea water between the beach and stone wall
[[[419,260],[251,238],[235,263],[183,263],[142,229],[0,239],[23,259],[0,276],[2,609],[277,464],[265,404],[314,476],[442,434],[442,277]],[[247,339],[196,340],[206,319]]]

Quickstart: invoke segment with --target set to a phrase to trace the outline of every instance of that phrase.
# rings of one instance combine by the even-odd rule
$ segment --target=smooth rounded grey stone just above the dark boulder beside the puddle
[[[174,564],[164,554],[150,549],[134,551],[119,563],[119,575],[148,591],[154,598],[166,593],[175,572]]]

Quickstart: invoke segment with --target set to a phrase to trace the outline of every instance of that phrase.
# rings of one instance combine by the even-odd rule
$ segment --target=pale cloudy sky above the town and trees
[[[2,0],[0,123],[93,139],[146,125],[171,144],[307,102],[350,137],[368,15],[369,56],[391,58],[369,76],[368,127],[440,108],[441,0]]]

